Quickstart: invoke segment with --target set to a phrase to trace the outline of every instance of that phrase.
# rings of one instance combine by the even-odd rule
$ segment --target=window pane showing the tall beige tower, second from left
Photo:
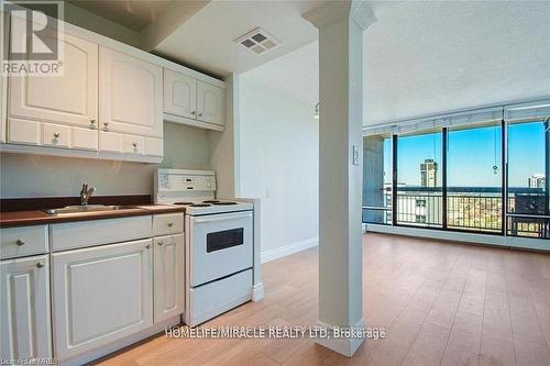
[[[441,130],[397,138],[397,224],[441,228]]]

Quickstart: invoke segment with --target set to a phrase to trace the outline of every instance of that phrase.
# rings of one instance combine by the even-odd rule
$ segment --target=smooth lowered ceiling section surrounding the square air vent
[[[301,15],[323,1],[211,1],[153,49],[215,75],[243,73],[316,41]],[[282,45],[256,55],[233,42],[257,26]]]

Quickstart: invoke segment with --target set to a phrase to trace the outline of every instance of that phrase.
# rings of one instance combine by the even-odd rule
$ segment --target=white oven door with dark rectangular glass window
[[[191,287],[252,267],[252,211],[189,219]]]

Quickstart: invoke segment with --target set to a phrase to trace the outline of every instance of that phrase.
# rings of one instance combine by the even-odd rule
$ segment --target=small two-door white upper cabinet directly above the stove
[[[223,89],[193,76],[164,69],[164,119],[223,131]]]

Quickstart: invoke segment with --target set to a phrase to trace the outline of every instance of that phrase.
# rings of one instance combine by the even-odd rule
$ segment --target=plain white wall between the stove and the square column
[[[317,244],[319,125],[311,106],[240,79],[240,193],[262,200],[262,256]]]

